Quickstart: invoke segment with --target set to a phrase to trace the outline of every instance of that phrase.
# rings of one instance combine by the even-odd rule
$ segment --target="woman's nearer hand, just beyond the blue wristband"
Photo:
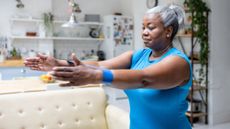
[[[102,80],[102,70],[89,65],[76,67],[54,67],[51,75],[57,80],[68,81],[61,86],[97,84]]]

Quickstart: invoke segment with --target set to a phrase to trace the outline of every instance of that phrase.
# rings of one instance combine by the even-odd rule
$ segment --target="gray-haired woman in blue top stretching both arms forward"
[[[158,6],[143,18],[145,49],[100,62],[38,55],[27,59],[25,65],[52,70],[57,79],[68,81],[64,86],[105,82],[124,89],[130,103],[130,129],[191,129],[185,116],[191,65],[172,45],[183,21],[184,11],[179,6]]]

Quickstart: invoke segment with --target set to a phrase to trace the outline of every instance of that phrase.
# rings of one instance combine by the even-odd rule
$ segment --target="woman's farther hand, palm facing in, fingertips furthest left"
[[[50,71],[58,66],[58,61],[52,56],[38,54],[36,57],[27,58],[24,64],[32,70]]]

